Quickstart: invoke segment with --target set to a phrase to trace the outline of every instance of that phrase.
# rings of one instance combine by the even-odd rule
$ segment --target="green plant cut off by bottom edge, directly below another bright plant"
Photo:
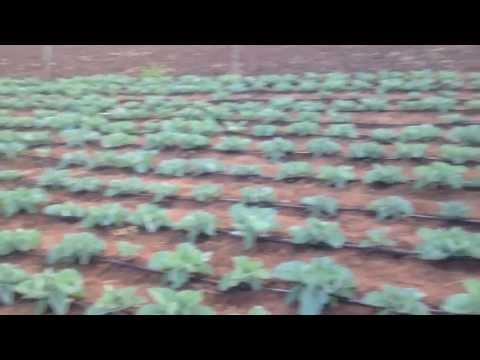
[[[212,308],[202,305],[200,291],[150,288],[148,292],[155,303],[142,306],[137,315],[215,315]]]

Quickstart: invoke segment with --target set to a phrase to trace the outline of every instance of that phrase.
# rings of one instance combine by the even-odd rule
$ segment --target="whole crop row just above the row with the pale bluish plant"
[[[379,165],[381,166],[381,165]],[[0,171],[0,181],[12,181],[21,178],[21,173],[14,170]],[[244,203],[248,205],[266,205],[276,208],[294,209],[308,212],[315,217],[334,217],[341,211],[355,211],[376,215],[378,219],[417,218],[424,220],[444,220],[480,224],[480,220],[471,219],[472,209],[459,201],[441,202],[437,215],[415,214],[415,208],[410,201],[400,197],[383,198],[372,201],[365,208],[341,207],[335,198],[328,196],[307,196],[298,204],[279,201],[274,188],[267,186],[247,186],[239,189],[239,198],[223,197],[223,185],[202,184],[192,188],[191,197],[179,195],[180,187],[171,183],[145,183],[140,178],[103,181],[100,178],[72,177],[68,171],[47,169],[34,182],[23,181],[22,186],[42,187],[50,190],[66,190],[70,193],[96,193],[106,197],[142,196],[152,203],[162,203],[169,200],[186,200],[200,203],[223,201],[227,203]],[[380,206],[378,204],[381,204]]]

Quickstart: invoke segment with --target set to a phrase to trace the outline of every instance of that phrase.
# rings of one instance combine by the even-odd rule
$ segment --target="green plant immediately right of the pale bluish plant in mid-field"
[[[289,233],[294,244],[326,244],[338,249],[346,241],[338,223],[320,221],[316,218],[307,219],[304,226],[292,226]]]

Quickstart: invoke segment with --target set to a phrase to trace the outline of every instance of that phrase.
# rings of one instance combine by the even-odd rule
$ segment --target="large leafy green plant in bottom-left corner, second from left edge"
[[[73,300],[84,295],[82,275],[74,269],[55,272],[46,269],[32,275],[15,287],[24,299],[36,300],[36,314],[44,314],[49,309],[55,315],[65,315]]]

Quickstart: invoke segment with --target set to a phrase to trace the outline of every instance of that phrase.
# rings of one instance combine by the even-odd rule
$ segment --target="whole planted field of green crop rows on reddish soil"
[[[0,314],[480,313],[480,73],[0,79]]]

